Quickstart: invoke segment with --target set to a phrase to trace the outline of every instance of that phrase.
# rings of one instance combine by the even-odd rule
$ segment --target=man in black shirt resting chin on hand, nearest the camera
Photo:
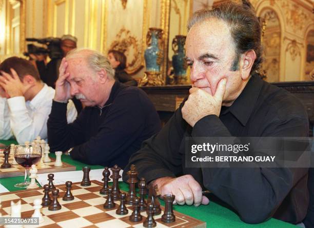
[[[247,5],[228,3],[195,12],[188,24],[186,60],[192,88],[162,131],[133,154],[139,176],[178,204],[208,204],[202,188],[230,205],[248,223],[276,217],[302,221],[308,205],[308,169],[187,168],[186,137],[307,136],[300,101],[254,75],[261,29]],[[126,173],[124,173],[126,179]]]

